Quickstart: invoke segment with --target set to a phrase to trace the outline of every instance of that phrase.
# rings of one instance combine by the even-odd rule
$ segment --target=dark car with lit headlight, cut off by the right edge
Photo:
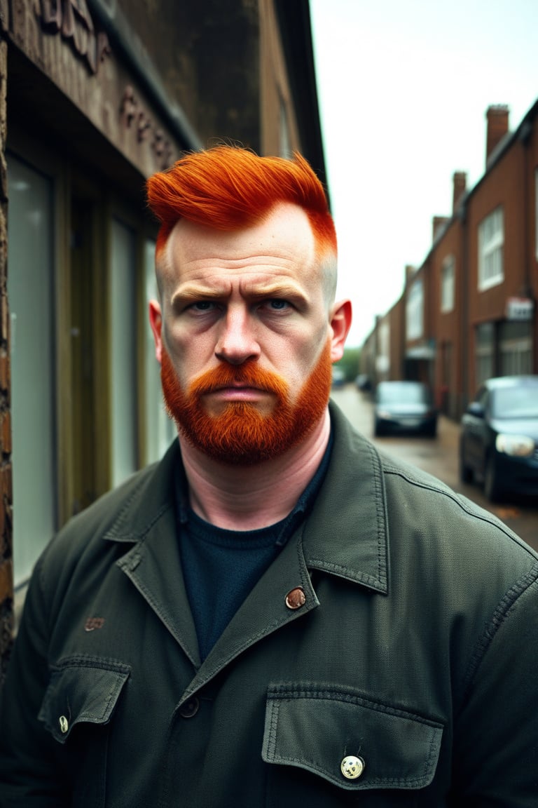
[[[538,376],[488,379],[461,419],[460,476],[486,497],[538,494]]]

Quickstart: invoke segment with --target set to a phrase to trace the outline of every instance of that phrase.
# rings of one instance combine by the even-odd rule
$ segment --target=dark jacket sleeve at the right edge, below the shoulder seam
[[[475,649],[454,739],[457,806],[538,805],[538,566],[498,605]]]

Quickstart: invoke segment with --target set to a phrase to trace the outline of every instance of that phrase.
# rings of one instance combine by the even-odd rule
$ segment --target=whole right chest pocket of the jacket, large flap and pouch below
[[[353,803],[358,797],[368,806],[368,792],[378,806],[419,804],[416,791],[432,783],[442,734],[438,722],[345,688],[270,686],[262,748],[263,760],[274,764],[269,805],[304,801],[309,788],[313,806]],[[383,790],[383,801],[379,791],[373,795],[376,789]]]

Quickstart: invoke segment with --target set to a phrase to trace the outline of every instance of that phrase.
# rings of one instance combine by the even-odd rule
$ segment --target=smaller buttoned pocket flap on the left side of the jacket
[[[106,724],[129,676],[129,667],[109,659],[67,659],[52,668],[38,718],[65,743],[80,722]]]

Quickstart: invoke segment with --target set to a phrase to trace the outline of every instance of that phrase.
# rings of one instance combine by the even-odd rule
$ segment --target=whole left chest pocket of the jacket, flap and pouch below
[[[94,657],[62,660],[52,668],[38,718],[57,742],[62,777],[72,780],[73,804],[105,804],[109,726],[129,667]]]

